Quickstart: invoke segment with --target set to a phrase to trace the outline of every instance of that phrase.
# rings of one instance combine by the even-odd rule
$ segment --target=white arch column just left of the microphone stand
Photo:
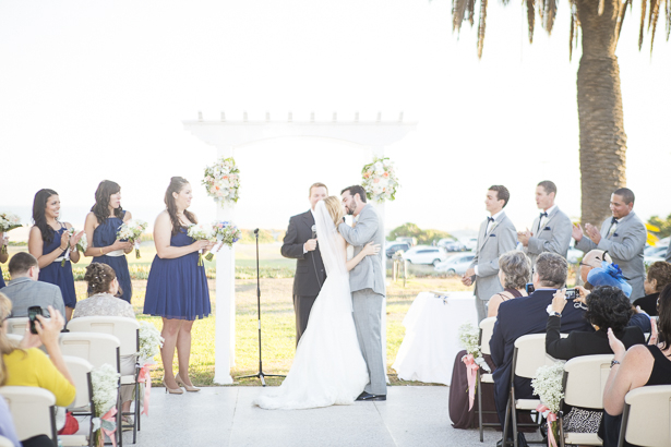
[[[232,148],[217,148],[218,157],[232,157]],[[217,157],[217,158],[218,158]],[[217,206],[217,220],[233,221],[235,206]],[[221,246],[216,254],[216,325],[214,383],[230,385],[230,369],[236,365],[236,249]]]

